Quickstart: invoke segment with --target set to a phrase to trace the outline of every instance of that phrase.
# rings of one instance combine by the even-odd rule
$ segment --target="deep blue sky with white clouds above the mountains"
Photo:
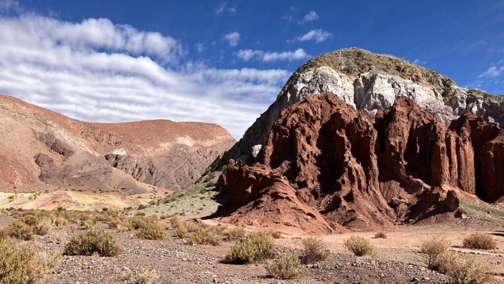
[[[297,67],[351,46],[504,93],[504,0],[0,0],[0,92],[92,122],[239,139]]]

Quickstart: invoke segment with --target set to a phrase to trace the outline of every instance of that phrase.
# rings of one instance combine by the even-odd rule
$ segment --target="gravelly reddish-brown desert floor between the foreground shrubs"
[[[0,226],[12,220],[12,217],[1,216]],[[159,220],[159,223],[168,226],[167,220]],[[417,246],[433,235],[447,236],[455,250],[491,265],[495,272],[492,283],[504,283],[504,227],[473,223],[466,230],[464,226],[467,225],[403,227],[389,231],[388,239],[374,239],[374,232],[357,233],[370,238],[377,246],[376,257],[355,257],[343,248],[343,240],[355,233],[326,235],[322,238],[330,251],[327,260],[307,266],[299,279],[277,280],[268,276],[262,263],[222,263],[224,255],[237,240],[235,238],[224,239],[217,247],[192,246],[177,239],[172,229],[168,230],[169,240],[148,241],[136,238],[135,232],[117,232],[98,223],[96,226],[114,233],[124,247],[124,254],[118,257],[64,256],[47,283],[127,283],[124,274],[141,272],[144,268],[160,275],[158,283],[449,283],[444,275],[427,269],[421,262]],[[484,230],[484,227],[492,230]],[[65,231],[65,240],[60,243],[54,243],[50,234],[36,236],[34,241],[26,243],[37,244],[41,250],[62,250],[73,234],[83,230],[72,231],[69,225]],[[497,249],[487,252],[457,248],[464,236],[473,231],[492,234],[498,241]],[[296,253],[301,237],[284,235],[275,242],[277,252]]]

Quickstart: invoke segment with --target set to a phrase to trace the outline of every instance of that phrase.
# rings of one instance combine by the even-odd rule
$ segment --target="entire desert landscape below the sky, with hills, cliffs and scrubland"
[[[0,283],[502,283],[504,97],[308,60],[236,141],[0,96]]]

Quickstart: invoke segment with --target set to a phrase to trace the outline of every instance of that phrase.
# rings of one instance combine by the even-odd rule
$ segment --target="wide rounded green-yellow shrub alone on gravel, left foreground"
[[[70,243],[65,246],[65,255],[116,256],[123,252],[122,245],[115,236],[103,229],[91,229],[74,235]]]

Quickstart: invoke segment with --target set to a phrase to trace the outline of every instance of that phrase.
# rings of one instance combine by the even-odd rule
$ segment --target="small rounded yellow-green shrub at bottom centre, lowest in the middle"
[[[282,254],[276,260],[268,260],[265,268],[277,279],[295,279],[304,272],[299,257],[293,254]]]

